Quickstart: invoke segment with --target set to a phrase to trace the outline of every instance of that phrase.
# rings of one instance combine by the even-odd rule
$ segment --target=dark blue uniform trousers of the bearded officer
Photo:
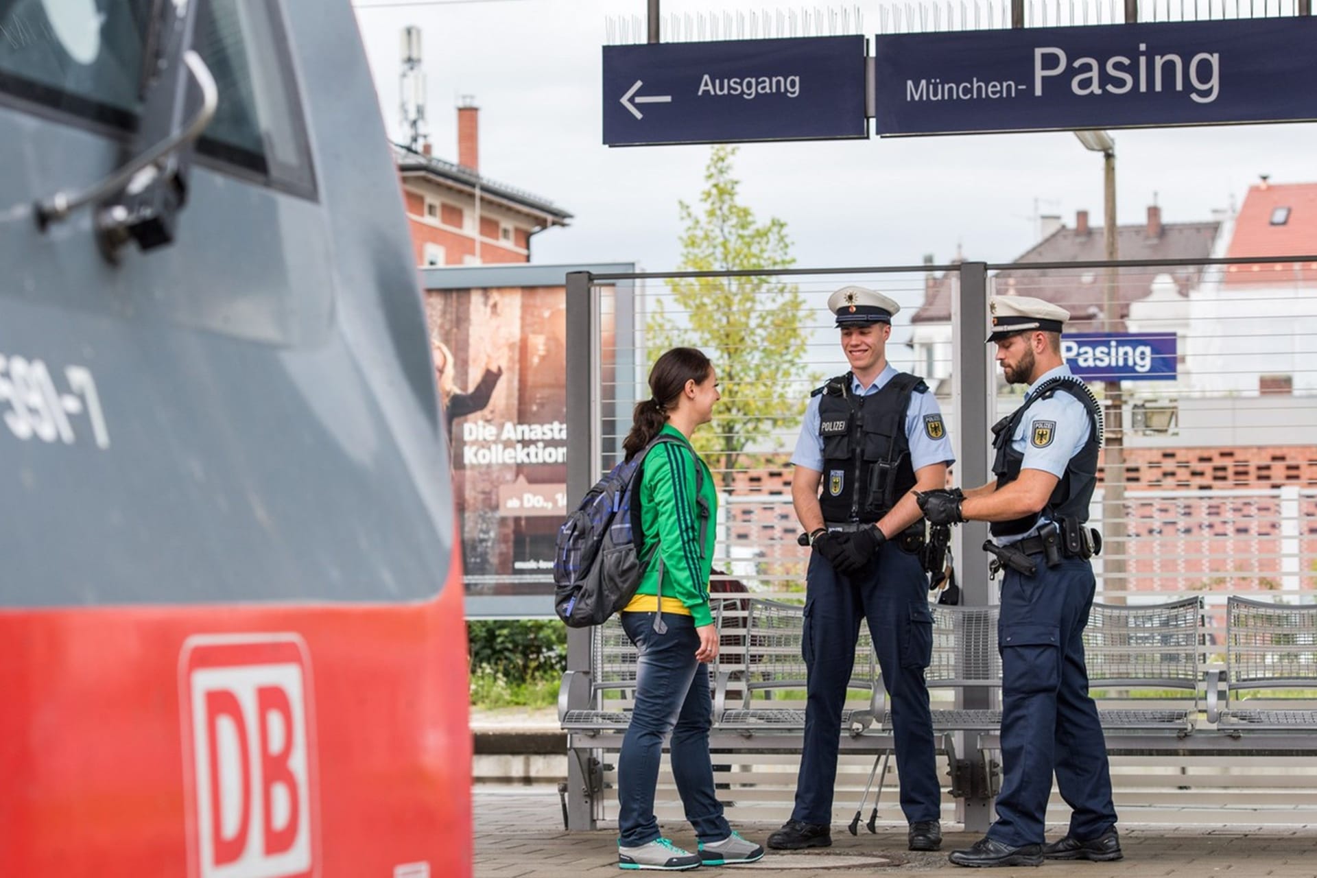
[[[988,836],[1011,846],[1043,842],[1054,770],[1073,810],[1072,837],[1088,841],[1115,824],[1106,742],[1084,666],[1093,569],[1081,558],[1056,567],[1040,555],[1034,561],[1034,577],[1006,570],[997,632],[1005,778]]]

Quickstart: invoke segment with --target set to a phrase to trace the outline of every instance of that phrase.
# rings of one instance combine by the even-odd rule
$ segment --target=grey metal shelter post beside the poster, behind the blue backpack
[[[591,301],[593,280],[589,271],[570,271],[566,280],[568,304],[568,349],[566,349],[566,390],[568,390],[568,496],[582,498],[593,484],[595,459],[591,448],[594,430],[590,425],[590,388],[594,353],[594,308]],[[590,631],[587,628],[568,629],[568,670],[590,670]],[[589,687],[578,686],[574,696],[581,703],[568,704],[569,710],[583,710],[590,706]],[[594,796],[590,790],[591,778],[581,770],[582,765],[568,754],[568,829],[594,829]]]

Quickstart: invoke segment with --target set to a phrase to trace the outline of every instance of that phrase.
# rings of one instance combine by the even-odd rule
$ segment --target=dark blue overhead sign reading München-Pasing
[[[1317,118],[1317,17],[877,37],[880,136]]]

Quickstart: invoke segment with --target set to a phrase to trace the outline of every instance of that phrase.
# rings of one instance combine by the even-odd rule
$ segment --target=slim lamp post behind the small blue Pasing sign
[[[1106,245],[1106,261],[1114,263],[1121,258],[1118,226],[1115,224],[1115,150],[1102,150],[1102,234]],[[1102,324],[1108,333],[1121,328],[1121,304],[1118,296],[1118,276],[1114,265],[1106,266],[1102,284]],[[1121,382],[1104,382],[1106,391],[1106,473],[1102,490],[1102,591],[1104,600],[1125,603],[1123,598],[1105,594],[1108,588],[1125,591],[1129,583],[1125,578],[1125,400]]]

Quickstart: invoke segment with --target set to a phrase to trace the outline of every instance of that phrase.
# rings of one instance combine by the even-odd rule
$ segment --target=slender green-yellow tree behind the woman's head
[[[710,465],[732,482],[741,453],[772,430],[799,425],[805,412],[803,383],[793,383],[806,351],[810,317],[795,284],[773,270],[789,269],[792,241],[786,222],[757,222],[738,201],[740,182],[732,176],[732,146],[714,146],[705,168],[698,209],[678,201],[685,232],[681,271],[757,271],[736,278],[674,278],[673,313],[662,301],[649,319],[656,350],[695,345],[714,358],[723,399],[714,408],[712,429],[695,433],[694,445]]]

